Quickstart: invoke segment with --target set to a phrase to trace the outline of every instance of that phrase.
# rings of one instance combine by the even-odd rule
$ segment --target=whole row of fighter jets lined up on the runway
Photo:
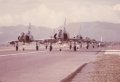
[[[18,40],[11,41],[10,44],[14,44],[16,47],[16,51],[19,50],[19,43],[23,43],[25,45],[26,43],[36,43],[36,50],[39,50],[39,44],[44,44],[46,49],[49,48],[50,51],[53,50],[53,44],[58,43],[59,45],[62,44],[69,44],[69,49],[72,49],[74,51],[77,50],[77,44],[81,45],[85,43],[86,48],[89,48],[89,45],[92,44],[94,48],[94,44],[97,44],[98,47],[102,46],[102,41],[96,41],[95,39],[90,38],[83,38],[82,36],[77,35],[76,37],[70,38],[68,33],[66,32],[66,19],[63,25],[62,29],[59,29],[58,33],[55,33],[52,37],[45,39],[45,40],[35,40],[33,35],[31,34],[31,24],[29,24],[28,32],[24,33],[22,32],[20,36],[18,36]],[[23,50],[25,50],[23,48]],[[62,50],[61,48],[59,49]]]

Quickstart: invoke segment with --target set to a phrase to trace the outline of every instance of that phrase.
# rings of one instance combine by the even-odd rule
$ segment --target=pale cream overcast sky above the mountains
[[[67,23],[106,21],[120,23],[120,0],[0,0],[0,26],[58,27]]]

